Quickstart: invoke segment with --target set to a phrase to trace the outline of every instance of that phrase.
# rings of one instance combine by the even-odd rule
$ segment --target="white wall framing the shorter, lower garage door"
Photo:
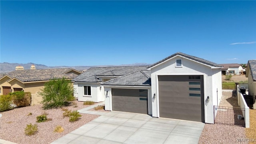
[[[112,88],[146,89],[148,90],[148,114],[152,114],[152,98],[150,86],[104,86],[105,110],[112,110]],[[108,91],[108,96],[106,95]]]

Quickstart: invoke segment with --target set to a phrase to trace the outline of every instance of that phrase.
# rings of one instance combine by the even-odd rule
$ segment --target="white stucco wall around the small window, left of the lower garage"
[[[91,100],[94,102],[104,101],[104,88],[100,89],[100,83],[76,83],[78,87],[78,101]],[[84,96],[84,86],[91,86],[91,96]]]

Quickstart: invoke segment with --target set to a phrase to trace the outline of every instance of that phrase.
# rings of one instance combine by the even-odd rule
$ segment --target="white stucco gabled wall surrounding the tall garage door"
[[[175,67],[175,60],[177,58],[182,58],[182,68]],[[151,68],[151,90],[152,98],[156,94],[156,99],[152,99],[152,116],[159,116],[159,98],[158,98],[158,75],[203,75],[204,76],[204,115],[205,122],[213,124],[213,104],[217,103],[217,93],[216,88],[218,88],[218,94],[222,96],[221,88],[221,68],[212,69],[209,66],[188,60],[180,56],[175,56],[170,60],[166,60],[161,64]],[[215,76],[216,75],[216,76]],[[212,79],[216,80],[212,80]],[[217,86],[213,86],[217,84]],[[214,90],[213,90],[214,88]],[[206,98],[210,97],[210,102],[206,105]]]

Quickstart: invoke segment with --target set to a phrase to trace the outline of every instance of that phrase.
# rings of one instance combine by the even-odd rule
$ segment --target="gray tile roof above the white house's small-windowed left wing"
[[[114,66],[89,68],[72,81],[74,82],[101,82],[98,77],[123,76],[139,70],[146,70],[147,66]]]

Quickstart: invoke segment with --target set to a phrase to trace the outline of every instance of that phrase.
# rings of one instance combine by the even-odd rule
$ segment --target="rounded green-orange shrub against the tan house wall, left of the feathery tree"
[[[12,92],[10,93],[12,95],[12,101],[16,106],[30,106],[31,103],[31,92]]]

